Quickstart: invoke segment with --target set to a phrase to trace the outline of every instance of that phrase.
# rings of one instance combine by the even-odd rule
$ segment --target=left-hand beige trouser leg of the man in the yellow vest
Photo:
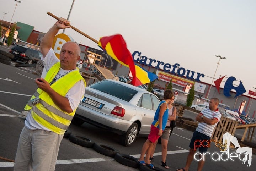
[[[30,134],[26,126],[21,131],[18,148],[15,156],[14,171],[32,171],[32,148]]]

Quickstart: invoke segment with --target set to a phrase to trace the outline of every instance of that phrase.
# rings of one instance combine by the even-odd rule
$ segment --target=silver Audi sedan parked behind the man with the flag
[[[105,79],[86,87],[72,123],[108,129],[128,147],[138,135],[148,136],[159,103],[158,97],[146,90]]]

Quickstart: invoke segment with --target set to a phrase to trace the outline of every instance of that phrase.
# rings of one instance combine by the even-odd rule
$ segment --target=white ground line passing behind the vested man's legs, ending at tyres
[[[76,163],[90,163],[90,162],[100,162],[100,161],[114,161],[114,158],[91,158],[91,159],[70,159],[70,160],[57,160],[56,165],[63,164],[76,164]],[[13,167],[14,162],[0,162],[1,167]]]

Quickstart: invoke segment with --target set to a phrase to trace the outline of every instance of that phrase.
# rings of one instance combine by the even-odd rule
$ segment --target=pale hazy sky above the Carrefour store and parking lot
[[[0,0],[0,18],[5,12],[4,20],[10,22],[14,14],[12,23],[26,23],[44,33],[56,21],[47,12],[67,18],[73,2],[20,1],[16,6],[14,0]],[[203,73],[200,80],[209,84],[219,61],[215,55],[226,57],[220,60],[215,78],[240,79],[247,95],[256,88],[255,9],[255,0],[74,0],[69,21],[96,40],[122,34],[131,53],[139,51],[151,59],[178,63],[186,70]],[[73,29],[66,29],[65,34],[100,49]]]

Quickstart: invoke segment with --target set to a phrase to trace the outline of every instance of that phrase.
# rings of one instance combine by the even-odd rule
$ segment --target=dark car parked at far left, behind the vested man
[[[14,54],[12,61],[22,61],[27,64],[37,63],[43,54],[36,49],[28,48],[27,46],[16,45],[11,48],[11,54]]]

